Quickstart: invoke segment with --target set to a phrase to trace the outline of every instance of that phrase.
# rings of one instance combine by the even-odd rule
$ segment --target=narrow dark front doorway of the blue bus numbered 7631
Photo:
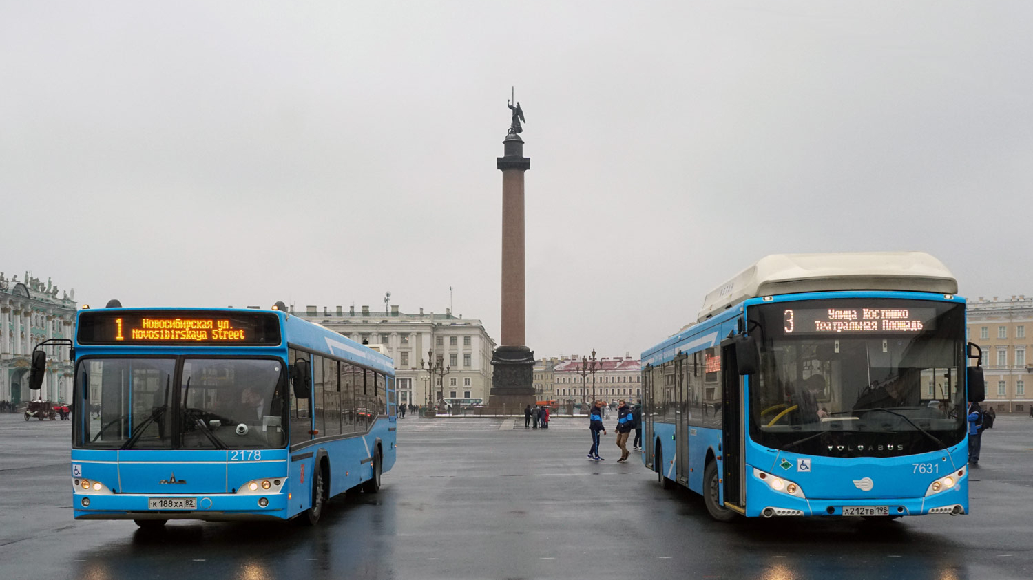
[[[742,419],[743,378],[739,376],[735,345],[731,340],[721,343],[721,390],[724,503],[742,511],[746,507],[746,488],[743,485],[746,469]]]

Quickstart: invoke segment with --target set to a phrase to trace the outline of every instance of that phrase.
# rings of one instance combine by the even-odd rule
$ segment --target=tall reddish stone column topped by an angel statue
[[[534,352],[524,337],[524,171],[531,160],[524,157],[524,110],[513,106],[512,124],[502,141],[504,155],[497,159],[502,171],[502,336],[492,356],[492,394],[489,407],[516,413],[534,405]]]

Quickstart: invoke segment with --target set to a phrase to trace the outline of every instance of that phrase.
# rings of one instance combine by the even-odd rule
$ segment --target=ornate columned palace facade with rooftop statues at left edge
[[[71,339],[75,302],[50,280],[26,272],[8,280],[0,272],[0,400],[71,400],[72,363],[67,346],[45,347],[42,389],[29,392],[29,364],[35,346],[48,339]]]

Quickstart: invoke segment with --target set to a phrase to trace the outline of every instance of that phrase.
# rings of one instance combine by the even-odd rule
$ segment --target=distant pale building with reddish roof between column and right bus
[[[583,375],[582,357],[562,358],[553,369],[556,398],[573,402],[592,399],[593,375]],[[630,355],[598,359],[594,375],[595,396],[606,401],[627,399],[637,402],[641,398],[641,361]]]

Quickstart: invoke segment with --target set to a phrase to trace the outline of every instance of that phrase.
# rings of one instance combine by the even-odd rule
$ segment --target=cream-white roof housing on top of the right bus
[[[925,252],[772,254],[707,294],[697,320],[747,298],[834,290],[957,294],[958,281]]]

